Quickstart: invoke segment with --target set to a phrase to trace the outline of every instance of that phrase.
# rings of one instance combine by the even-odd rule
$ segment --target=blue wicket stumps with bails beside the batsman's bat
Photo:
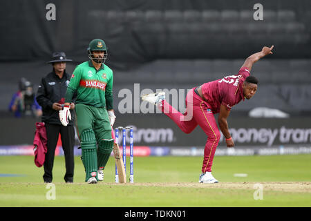
[[[133,127],[127,126],[122,127],[119,126],[115,128],[115,140],[119,141],[119,131],[122,130],[122,157],[123,157],[123,164],[124,170],[126,172],[126,130],[129,130],[130,133],[130,179],[129,182],[134,182],[134,153],[133,153]],[[117,174],[117,165],[115,165],[115,182],[119,182],[119,176]]]

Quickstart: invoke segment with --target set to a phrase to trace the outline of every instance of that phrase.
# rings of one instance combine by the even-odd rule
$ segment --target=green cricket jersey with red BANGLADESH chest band
[[[105,64],[96,70],[91,60],[79,64],[71,76],[65,102],[71,102],[75,91],[76,104],[113,109],[113,71]]]

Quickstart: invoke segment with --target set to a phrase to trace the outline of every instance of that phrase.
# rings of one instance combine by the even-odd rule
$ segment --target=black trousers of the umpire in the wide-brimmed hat
[[[44,161],[44,182],[52,182],[53,180],[52,170],[59,133],[61,135],[66,163],[64,180],[65,182],[73,182],[73,170],[75,166],[73,153],[73,147],[75,146],[75,128],[70,125],[62,126],[58,124],[46,124],[48,151],[46,153],[46,160]]]

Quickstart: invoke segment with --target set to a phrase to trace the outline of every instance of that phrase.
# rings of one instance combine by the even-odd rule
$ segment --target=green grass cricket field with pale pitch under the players
[[[311,206],[311,155],[216,156],[219,184],[198,184],[201,163],[202,157],[135,157],[135,184],[115,184],[111,157],[104,182],[86,184],[75,157],[75,183],[66,184],[64,157],[55,157],[55,200],[48,200],[51,189],[34,157],[1,156],[0,206]],[[263,184],[263,200],[254,200],[255,183]]]

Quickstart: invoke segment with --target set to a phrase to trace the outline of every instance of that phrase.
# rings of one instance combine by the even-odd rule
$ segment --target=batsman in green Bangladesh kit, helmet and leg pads
[[[73,71],[59,118],[67,126],[71,118],[70,102],[76,91],[77,135],[81,142],[85,182],[96,184],[104,179],[103,170],[113,151],[113,71],[104,64],[108,54],[102,39],[93,39],[87,50],[89,60]]]

